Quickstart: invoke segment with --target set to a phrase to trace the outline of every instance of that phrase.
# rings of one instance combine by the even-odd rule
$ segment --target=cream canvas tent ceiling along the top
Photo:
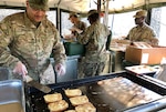
[[[96,9],[97,0],[49,0],[50,8],[61,8],[69,11],[85,13],[90,9]],[[122,12],[137,8],[160,7],[166,0],[101,0],[104,10],[105,1],[108,1],[108,12]],[[25,0],[0,0],[1,7],[25,7]]]

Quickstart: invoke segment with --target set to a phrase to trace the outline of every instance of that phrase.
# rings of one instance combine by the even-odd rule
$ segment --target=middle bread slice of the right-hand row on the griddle
[[[71,101],[72,105],[76,106],[80,104],[87,103],[89,98],[86,95],[80,95],[80,96],[70,98],[70,101]]]

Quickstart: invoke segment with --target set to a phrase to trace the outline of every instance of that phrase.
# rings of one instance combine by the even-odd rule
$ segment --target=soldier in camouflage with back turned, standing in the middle
[[[81,44],[85,44],[86,52],[83,59],[83,75],[80,78],[94,77],[103,72],[106,61],[105,44],[110,30],[106,26],[100,23],[100,14],[96,10],[90,10],[87,20],[91,26],[87,27],[85,32],[77,37]]]

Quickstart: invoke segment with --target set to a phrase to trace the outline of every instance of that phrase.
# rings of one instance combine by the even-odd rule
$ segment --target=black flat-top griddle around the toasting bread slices
[[[117,93],[118,91],[124,92],[123,88],[120,89],[118,85],[115,85],[114,88],[114,85],[107,86],[106,84],[101,84],[102,81],[111,81],[121,78],[124,79],[127,83],[128,81],[136,83],[136,85],[138,85],[137,89],[139,89],[139,92],[148,91],[154,99],[151,99],[147,102],[139,102],[138,104],[127,105],[128,102],[132,101],[136,95],[133,94],[131,95],[131,98],[127,98],[126,95],[128,94],[126,92],[124,93],[124,95],[122,95],[123,93],[120,93],[117,96],[114,93],[116,93],[116,91]],[[116,81],[116,83],[120,84],[118,81]],[[115,82],[110,84],[115,84]],[[55,83],[49,86],[52,88],[51,93],[62,93],[63,99],[70,104],[69,109],[74,109],[74,106],[71,104],[69,98],[64,94],[64,90],[74,88],[81,89],[83,94],[87,95],[90,102],[92,102],[92,104],[96,108],[97,112],[136,112],[135,110],[144,110],[145,108],[152,111],[159,110],[166,106],[166,99],[164,98],[164,95],[166,94],[166,85],[164,83],[159,84],[156,81],[154,82],[147,78],[144,78],[144,75],[133,75],[125,71],[120,73]],[[43,95],[45,94],[33,88],[29,88],[27,91],[27,112],[50,112],[48,110],[48,104],[44,102]],[[128,101],[125,102],[122,99],[124,99],[125,101],[127,99]],[[165,101],[165,103],[163,103],[163,100]],[[153,104],[155,104],[155,102],[157,102],[157,108],[151,108],[153,106]]]

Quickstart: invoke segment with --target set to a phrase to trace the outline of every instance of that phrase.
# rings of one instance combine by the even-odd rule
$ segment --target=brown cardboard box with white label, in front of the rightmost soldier
[[[134,64],[160,64],[166,58],[166,47],[137,48],[128,45],[125,52],[125,60]]]

